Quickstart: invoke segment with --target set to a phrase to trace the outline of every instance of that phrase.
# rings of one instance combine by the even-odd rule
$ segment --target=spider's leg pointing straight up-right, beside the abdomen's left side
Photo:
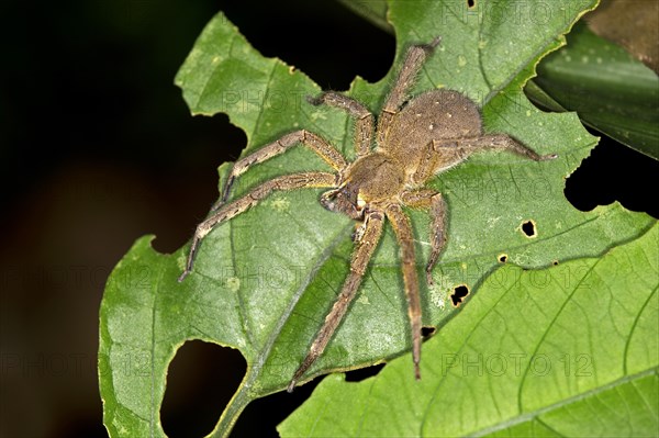
[[[389,92],[384,106],[382,106],[382,112],[378,117],[378,145],[384,144],[384,135],[387,134],[387,131],[389,131],[394,114],[407,99],[407,93],[414,85],[421,67],[428,55],[433,53],[437,45],[439,45],[440,41],[442,38],[438,36],[429,44],[415,45],[407,49],[403,67],[401,68],[398,79]]]

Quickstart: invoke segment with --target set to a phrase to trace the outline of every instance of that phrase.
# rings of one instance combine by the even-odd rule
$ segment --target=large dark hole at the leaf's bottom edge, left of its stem
[[[232,348],[200,340],[179,348],[169,363],[160,408],[167,436],[202,437],[211,433],[246,369],[243,356]]]

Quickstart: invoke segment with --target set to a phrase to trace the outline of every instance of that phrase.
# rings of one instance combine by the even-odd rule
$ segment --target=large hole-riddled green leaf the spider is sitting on
[[[594,2],[581,9],[571,1],[552,2],[556,11],[541,26],[502,19],[510,12],[504,2],[479,2],[489,11],[482,20],[462,1],[390,4],[399,38],[395,67],[410,44],[443,36],[416,92],[460,90],[483,108],[487,130],[509,133],[539,153],[559,154],[545,162],[482,154],[433,180],[450,206],[449,240],[434,272],[436,285],[422,287],[425,325],[439,326],[455,315],[447,305],[453,288],[476,290],[502,254],[507,262],[543,268],[595,257],[654,223],[619,205],[588,213],[573,209],[562,194],[563,180],[596,139],[573,114],[543,113],[521,91],[538,59],[563,42],[561,35]],[[547,8],[539,0],[525,4]],[[358,78],[348,93],[377,112],[395,70],[375,85]],[[354,157],[348,117],[305,103],[319,87],[258,54],[223,14],[204,29],[176,81],[193,113],[225,112],[246,132],[244,154],[303,127]],[[220,170],[225,175],[227,167]],[[290,150],[242,176],[234,194],[298,170],[326,170],[326,165],[303,148]],[[237,348],[248,364],[215,435],[228,434],[250,401],[286,388],[348,271],[354,224],[321,207],[317,196],[316,190],[275,194],[217,226],[183,283],[176,279],[188,247],[160,255],[150,247],[152,237],[133,246],[112,272],[101,304],[100,384],[112,436],[164,435],[159,408],[167,367],[189,339]],[[428,254],[428,217],[410,213],[421,272]],[[534,237],[522,232],[525,222],[533,222]],[[401,281],[398,247],[387,228],[358,299],[308,379],[380,362],[410,348]]]

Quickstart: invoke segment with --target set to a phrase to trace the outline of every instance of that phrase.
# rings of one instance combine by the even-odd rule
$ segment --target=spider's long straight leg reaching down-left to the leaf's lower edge
[[[382,222],[383,214],[379,211],[369,211],[366,214],[366,228],[364,236],[358,242],[356,249],[353,252],[353,259],[350,261],[350,273],[344,282],[343,289],[336,299],[336,302],[332,306],[332,311],[325,317],[323,326],[315,336],[315,339],[311,344],[306,357],[293,374],[291,382],[289,383],[287,391],[292,392],[298,381],[304,375],[306,370],[315,362],[315,360],[323,353],[325,347],[330,342],[330,339],[336,332],[336,328],[343,321],[348,306],[355,297],[361,279],[366,272],[371,256],[380,240],[382,235]]]

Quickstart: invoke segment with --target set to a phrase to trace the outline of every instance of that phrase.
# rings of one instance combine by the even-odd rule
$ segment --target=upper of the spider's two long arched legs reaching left
[[[237,160],[226,179],[226,183],[224,184],[224,191],[222,193],[222,198],[220,201],[213,205],[211,211],[216,211],[220,209],[228,199],[228,193],[234,183],[234,180],[239,175],[244,173],[250,166],[264,162],[279,154],[284,153],[290,147],[302,144],[316,153],[321,158],[325,160],[332,168],[335,170],[342,171],[346,168],[347,162],[344,157],[339,154],[338,150],[334,148],[330,143],[325,139],[321,138],[319,135],[311,133],[305,130],[300,130],[292,132],[290,134],[286,134],[283,137],[279,138],[276,142],[272,142],[260,149],[249,154],[248,156],[241,158]]]

